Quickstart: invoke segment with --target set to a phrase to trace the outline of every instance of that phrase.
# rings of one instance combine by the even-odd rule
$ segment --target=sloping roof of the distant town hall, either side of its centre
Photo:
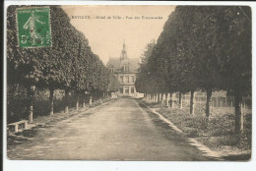
[[[137,73],[139,69],[139,59],[138,58],[129,58],[129,69],[132,73]],[[120,66],[121,60],[120,58],[109,58],[106,67],[107,68],[114,68],[114,73],[122,72],[122,67]]]

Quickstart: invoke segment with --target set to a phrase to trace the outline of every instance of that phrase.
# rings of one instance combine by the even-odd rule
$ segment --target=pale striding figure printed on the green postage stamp
[[[32,45],[35,45],[35,40],[40,40],[40,43],[43,43],[43,37],[36,31],[35,23],[39,23],[44,25],[45,22],[39,21],[40,16],[36,16],[33,14],[34,11],[32,11],[32,16],[29,18],[29,20],[26,22],[23,28],[25,29],[30,29],[30,34],[31,34],[31,41]]]

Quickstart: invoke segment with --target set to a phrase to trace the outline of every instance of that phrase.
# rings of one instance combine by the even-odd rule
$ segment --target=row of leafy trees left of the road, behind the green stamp
[[[104,97],[118,89],[117,79],[93,53],[85,35],[70,24],[60,6],[49,7],[52,47],[18,47],[16,9],[20,7],[9,6],[7,10],[7,84],[27,88],[30,122],[35,88],[49,89],[50,114],[53,114],[54,89],[65,90],[66,112],[71,91],[77,94],[78,108],[79,94],[97,93]]]

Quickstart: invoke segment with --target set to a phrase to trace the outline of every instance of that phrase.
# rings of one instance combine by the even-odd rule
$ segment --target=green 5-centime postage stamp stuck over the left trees
[[[49,7],[17,9],[17,27],[20,47],[51,46]]]

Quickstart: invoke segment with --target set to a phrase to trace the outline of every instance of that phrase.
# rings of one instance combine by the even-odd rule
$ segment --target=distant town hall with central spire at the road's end
[[[137,96],[134,84],[139,68],[139,59],[128,57],[125,43],[123,43],[120,57],[110,57],[106,67],[118,78],[120,84],[119,90],[116,92],[118,95]]]

